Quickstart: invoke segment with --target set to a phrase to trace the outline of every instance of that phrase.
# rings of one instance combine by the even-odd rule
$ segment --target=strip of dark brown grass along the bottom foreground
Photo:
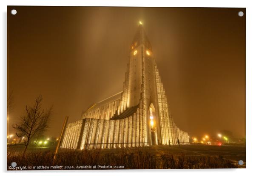
[[[82,165],[123,165],[123,169],[237,168],[233,162],[222,157],[186,156],[182,153],[156,155],[141,148],[122,149],[105,154],[102,150],[61,150],[54,163],[53,157],[53,151],[29,151],[24,158],[22,155],[8,152],[7,166],[15,161],[17,166],[73,166],[70,169],[79,169],[77,166]],[[7,170],[11,170],[8,167]]]

